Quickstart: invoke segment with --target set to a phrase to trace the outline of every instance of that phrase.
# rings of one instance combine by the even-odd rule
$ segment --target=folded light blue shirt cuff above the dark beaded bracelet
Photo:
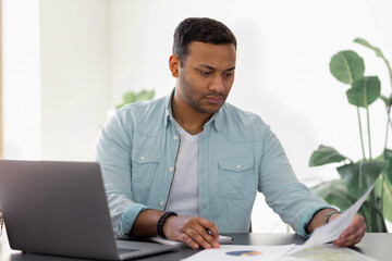
[[[144,211],[150,209],[147,206],[140,203],[134,203],[130,208],[127,208],[120,217],[117,236],[120,238],[126,237],[126,235],[131,232],[132,226],[137,217],[137,215]]]

